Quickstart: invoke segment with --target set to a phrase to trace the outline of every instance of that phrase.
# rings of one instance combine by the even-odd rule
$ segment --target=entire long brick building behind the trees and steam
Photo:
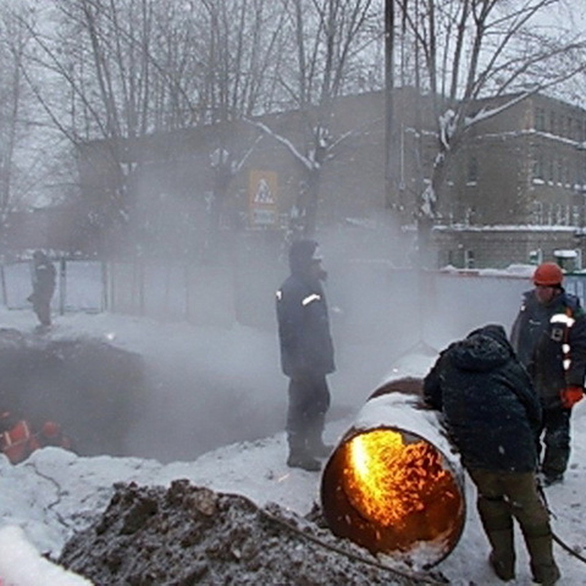
[[[485,105],[498,105],[498,100],[479,102],[475,108]],[[300,152],[312,131],[311,120],[311,113],[298,112],[263,118],[275,135]],[[321,170],[318,226],[385,215],[404,226],[413,223],[417,196],[430,178],[437,152],[429,98],[417,97],[412,88],[394,94],[391,193],[386,193],[384,177],[384,128],[383,93],[336,102],[328,118],[333,146]],[[503,267],[551,259],[554,251],[577,251],[578,263],[584,233],[585,133],[586,111],[540,95],[471,128],[440,202],[432,239],[437,264]],[[115,200],[117,185],[124,183],[122,191],[132,208],[125,236],[150,242],[145,246],[151,251],[160,246],[161,234],[172,254],[204,246],[217,180],[214,157],[231,169],[219,210],[221,226],[231,232],[280,229],[303,189],[304,169],[291,150],[246,122],[116,144],[96,141],[84,145],[80,154],[86,204],[94,202],[103,212],[104,202]],[[238,170],[232,172],[236,163]],[[273,185],[273,207],[255,215],[251,177],[263,173],[266,185]],[[255,218],[272,219],[263,224]]]

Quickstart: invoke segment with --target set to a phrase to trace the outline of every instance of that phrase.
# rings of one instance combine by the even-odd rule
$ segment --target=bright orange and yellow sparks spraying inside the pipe
[[[413,517],[441,498],[459,498],[442,455],[425,441],[377,429],[356,435],[345,445],[344,483],[352,506],[380,526],[408,526]],[[447,520],[446,520],[447,521]],[[434,530],[440,534],[445,523]]]

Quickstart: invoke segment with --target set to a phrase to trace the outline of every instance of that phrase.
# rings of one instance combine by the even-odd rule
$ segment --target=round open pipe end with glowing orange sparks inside
[[[349,432],[322,476],[322,506],[332,531],[374,553],[413,553],[441,561],[464,526],[464,495],[433,444],[379,427]]]

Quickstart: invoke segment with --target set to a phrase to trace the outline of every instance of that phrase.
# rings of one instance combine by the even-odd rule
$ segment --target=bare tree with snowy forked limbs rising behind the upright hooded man
[[[304,116],[302,145],[258,125],[287,145],[301,163],[305,179],[299,186],[293,225],[304,236],[315,232],[322,166],[333,154],[339,137],[331,137],[329,118],[332,102],[359,87],[360,57],[380,38],[380,18],[372,0],[281,0],[287,16],[289,58],[277,70],[277,79],[292,108]],[[373,30],[376,33],[373,35]]]

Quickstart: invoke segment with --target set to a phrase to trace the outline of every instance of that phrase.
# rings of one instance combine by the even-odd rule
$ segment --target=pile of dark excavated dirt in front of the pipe
[[[261,509],[186,480],[115,485],[101,519],[58,563],[100,586],[438,583],[376,567],[362,548],[278,505]]]

